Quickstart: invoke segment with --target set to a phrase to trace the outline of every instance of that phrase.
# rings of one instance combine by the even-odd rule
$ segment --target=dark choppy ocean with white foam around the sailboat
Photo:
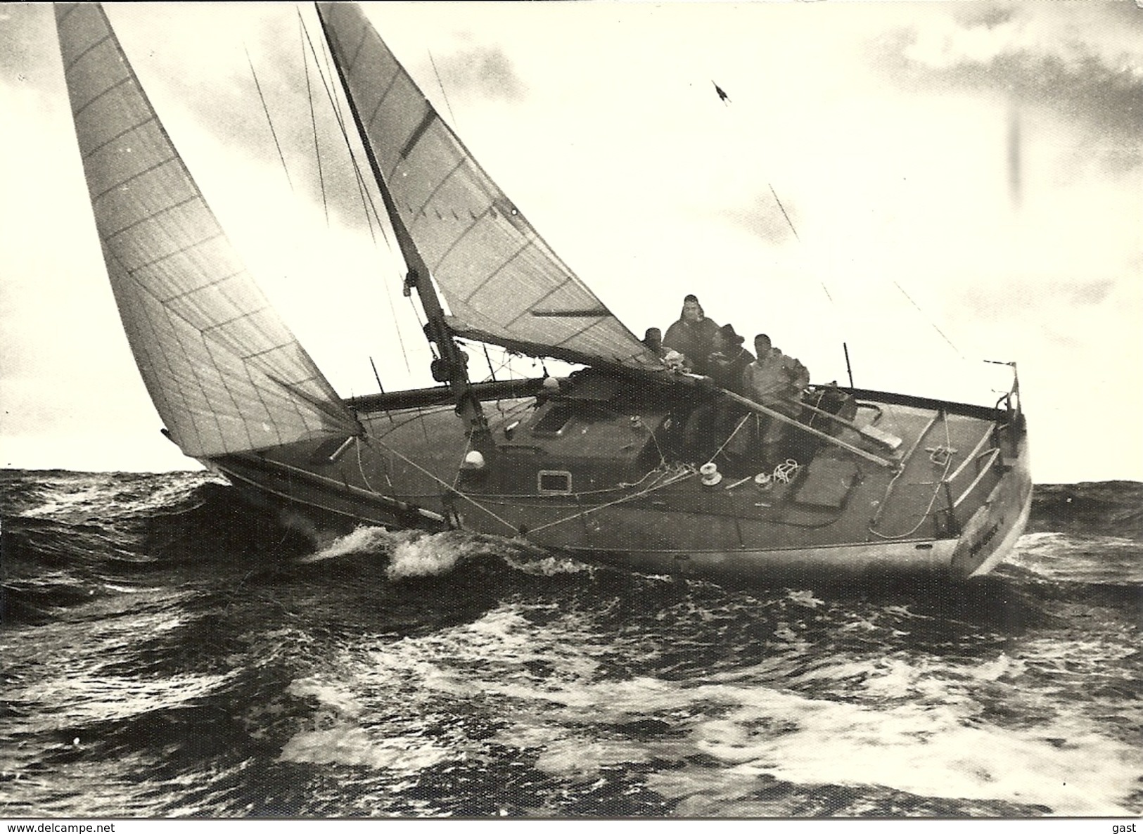
[[[0,472],[0,817],[1143,812],[1143,484],[964,585],[333,537],[209,473]],[[1109,829],[1110,831],[1110,829]]]

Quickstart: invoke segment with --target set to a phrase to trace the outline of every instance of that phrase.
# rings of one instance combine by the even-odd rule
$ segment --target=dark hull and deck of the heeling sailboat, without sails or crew
[[[902,441],[892,455],[874,449],[892,465],[796,443],[789,482],[764,488],[741,468],[749,464],[711,486],[665,460],[650,436],[669,425],[662,403],[545,433],[552,420],[539,419],[527,395],[535,391],[482,391],[501,399],[485,401],[497,449],[493,472],[479,478],[461,472],[470,444],[441,390],[357,401],[367,438],[344,447],[339,439],[210,463],[251,498],[333,527],[461,528],[653,572],[746,579],[977,576],[1012,550],[1031,506],[1018,411],[856,391],[857,422]],[[645,436],[658,452],[650,458],[630,440]]]

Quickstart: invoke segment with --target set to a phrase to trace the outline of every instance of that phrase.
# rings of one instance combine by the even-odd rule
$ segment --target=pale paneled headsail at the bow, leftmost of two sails
[[[56,6],[103,257],[131,352],[192,457],[357,432],[226,240],[98,5]]]

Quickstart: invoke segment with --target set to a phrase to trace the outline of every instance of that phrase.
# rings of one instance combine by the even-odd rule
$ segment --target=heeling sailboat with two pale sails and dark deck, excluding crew
[[[658,574],[957,580],[1012,550],[1032,491],[1015,366],[993,407],[831,383],[785,414],[669,364],[539,236],[358,6],[317,15],[435,386],[341,396],[243,266],[102,7],[55,9],[107,275],[185,455],[334,528],[466,530]],[[577,370],[473,380],[470,343]],[[711,414],[695,448],[685,428]],[[773,420],[776,463],[752,449]]]

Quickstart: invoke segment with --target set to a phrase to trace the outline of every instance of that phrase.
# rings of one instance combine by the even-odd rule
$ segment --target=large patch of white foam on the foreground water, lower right
[[[543,624],[527,616],[537,610]],[[407,699],[410,716],[454,699],[495,705],[504,725],[489,740],[535,752],[535,767],[552,777],[583,781],[613,765],[674,763],[648,775],[647,787],[696,812],[766,808],[753,794],[777,781],[1042,805],[1064,816],[1130,813],[1138,751],[1101,732],[1094,717],[1044,715],[1021,657],[839,657],[785,675],[786,657],[698,685],[650,675],[601,680],[614,647],[594,640],[590,616],[554,611],[554,603],[504,603],[472,623],[386,642],[365,663],[355,659],[359,672],[349,679],[378,704]],[[816,691],[823,682],[829,697]],[[813,695],[796,691],[807,685]],[[343,696],[319,697],[335,704]],[[1031,707],[1030,720],[989,717],[988,704],[1005,698],[1016,714]],[[407,768],[442,755],[430,748],[410,757],[405,736],[354,730],[350,716],[366,714],[354,703],[283,755]],[[632,737],[629,725],[647,719],[662,729]],[[690,772],[697,756],[720,763],[704,765],[717,778]]]

